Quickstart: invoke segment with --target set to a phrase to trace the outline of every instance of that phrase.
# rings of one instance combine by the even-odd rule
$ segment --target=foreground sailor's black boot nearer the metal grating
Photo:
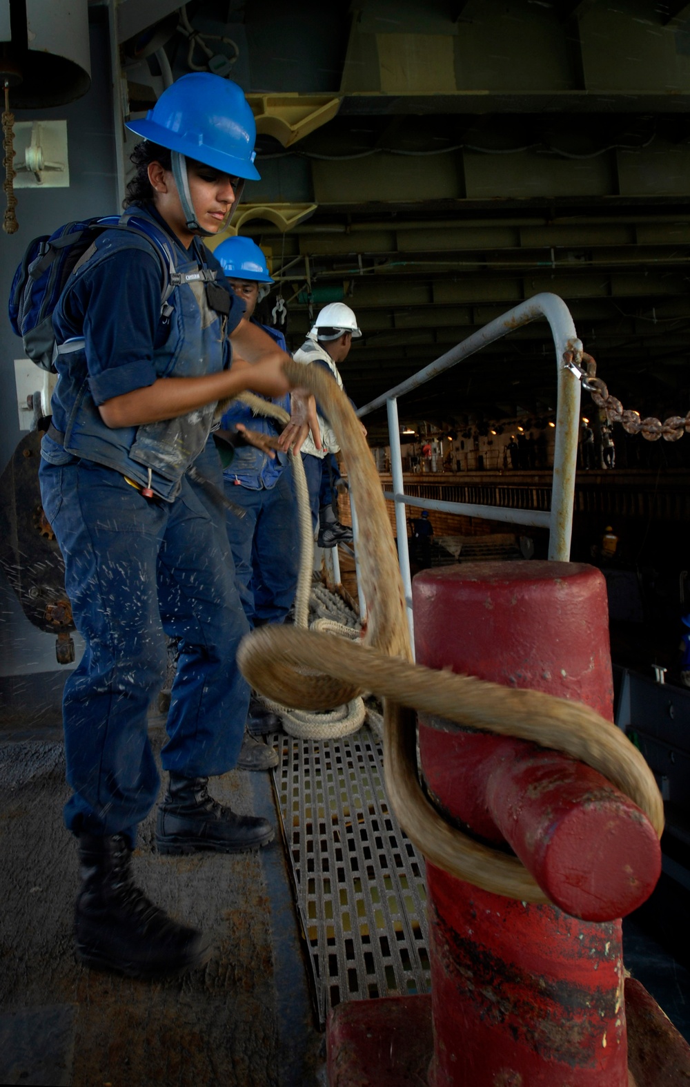
[[[208,777],[171,774],[155,827],[159,853],[240,853],[273,840],[268,820],[236,815],[209,796],[208,784]]]

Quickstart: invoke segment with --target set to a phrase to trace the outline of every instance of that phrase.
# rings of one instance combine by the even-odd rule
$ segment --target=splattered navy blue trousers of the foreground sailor
[[[86,642],[63,697],[74,789],[65,823],[75,833],[124,832],[134,844],[160,784],[147,712],[161,687],[163,630],[179,639],[163,767],[205,777],[230,770],[239,754],[249,685],[235,654],[249,626],[224,511],[187,476],[174,502],[147,499],[86,460],[43,460],[40,480]]]

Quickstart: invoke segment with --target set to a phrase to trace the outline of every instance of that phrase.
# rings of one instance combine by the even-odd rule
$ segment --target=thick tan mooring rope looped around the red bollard
[[[348,461],[360,514],[360,584],[367,628],[359,645],[329,634],[264,626],[247,635],[238,661],[262,694],[287,705],[326,710],[363,689],[384,698],[386,791],[405,833],[424,855],[459,879],[525,902],[547,896],[520,861],[481,846],[449,824],[417,774],[415,710],[502,736],[517,736],[579,759],[607,777],[649,816],[661,836],[662,798],[640,752],[589,707],[531,690],[415,665],[411,660],[400,570],[384,495],[362,428],[346,396],[316,366],[286,363],[326,409]]]

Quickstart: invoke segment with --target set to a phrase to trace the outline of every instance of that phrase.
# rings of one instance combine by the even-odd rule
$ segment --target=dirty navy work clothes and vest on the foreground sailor
[[[163,232],[183,277],[168,299],[172,313],[161,313],[162,273],[151,243],[122,230],[101,235],[53,315],[64,353],[52,400],[55,430],[42,440],[40,465],[43,509],[86,642],[63,698],[74,790],[65,823],[75,833],[123,832],[133,844],[160,784],[147,711],[164,670],[163,630],[179,639],[165,770],[196,777],[231,769],[249,705],[235,660],[248,623],[225,510],[185,474],[193,462],[222,487],[209,441],[214,405],[121,428],[108,427],[98,411],[158,377],[227,368],[227,336],[244,307],[231,296],[221,317],[199,276],[184,279],[199,267],[217,272],[215,259],[196,239],[185,250],[154,210],[137,215]],[[141,491],[149,479],[153,498]]]

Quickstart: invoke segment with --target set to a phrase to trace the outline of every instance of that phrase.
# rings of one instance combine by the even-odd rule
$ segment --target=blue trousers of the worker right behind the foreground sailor
[[[292,466],[268,489],[238,486],[226,476],[225,493],[244,510],[243,517],[228,510],[226,526],[249,624],[283,623],[294,600],[300,561]]]

